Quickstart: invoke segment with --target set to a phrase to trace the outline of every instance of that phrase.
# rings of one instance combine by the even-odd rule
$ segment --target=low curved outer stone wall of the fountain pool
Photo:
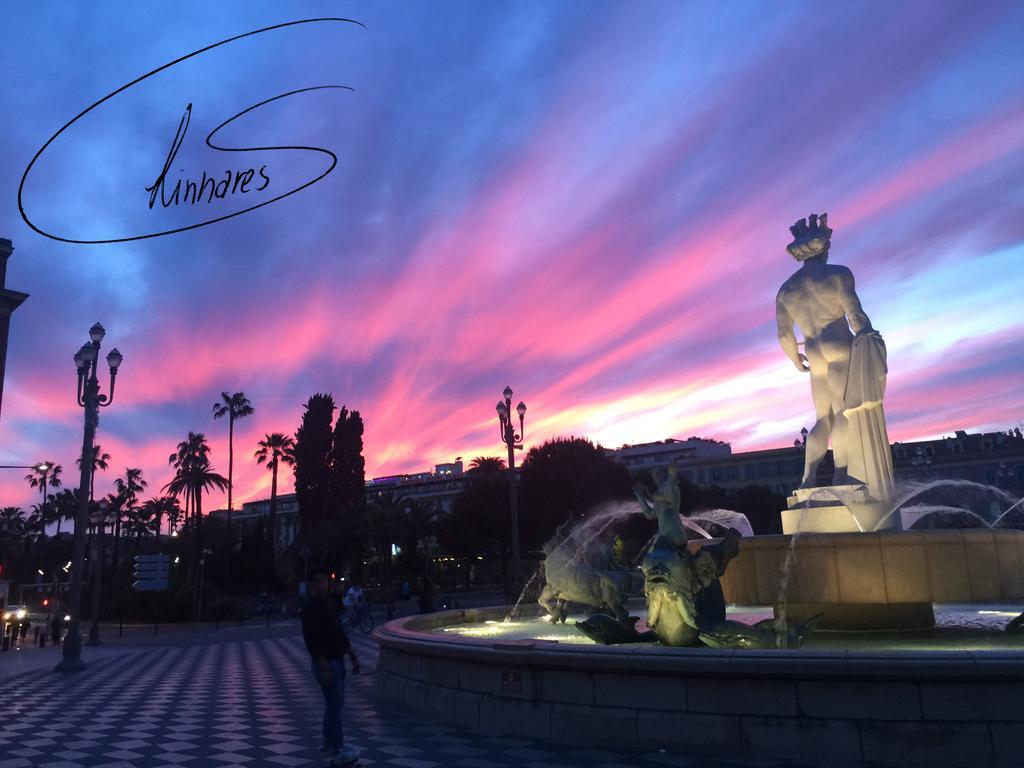
[[[570,646],[430,633],[507,610],[379,628],[378,696],[477,732],[587,746],[829,764],[1019,760],[1024,652]]]

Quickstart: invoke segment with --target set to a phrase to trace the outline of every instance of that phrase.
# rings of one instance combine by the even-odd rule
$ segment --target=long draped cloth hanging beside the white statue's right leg
[[[888,500],[893,489],[893,457],[882,410],[887,373],[885,341],[877,333],[858,334],[853,340],[844,401],[849,421],[847,471],[880,501]]]

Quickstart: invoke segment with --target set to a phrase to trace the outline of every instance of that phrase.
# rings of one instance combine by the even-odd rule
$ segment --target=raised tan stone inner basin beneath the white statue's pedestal
[[[756,536],[742,540],[722,587],[730,603],[773,605],[776,615],[784,607],[791,626],[823,612],[821,630],[926,629],[933,603],[1024,598],[1024,531]]]

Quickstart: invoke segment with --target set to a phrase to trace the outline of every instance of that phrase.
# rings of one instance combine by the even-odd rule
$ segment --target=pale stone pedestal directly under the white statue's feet
[[[797,488],[782,512],[783,534],[863,534],[899,530],[898,514],[872,499],[862,483]]]

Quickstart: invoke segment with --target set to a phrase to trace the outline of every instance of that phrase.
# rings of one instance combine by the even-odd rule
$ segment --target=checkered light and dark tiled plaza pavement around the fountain
[[[366,672],[346,681],[345,734],[362,750],[365,766],[797,765],[616,754],[478,736],[431,723],[374,701],[377,648],[372,639],[355,634]],[[168,643],[103,648],[76,676],[55,674],[48,667],[0,674],[0,768],[328,765],[316,752],[323,699],[297,632],[226,640],[210,633]]]

